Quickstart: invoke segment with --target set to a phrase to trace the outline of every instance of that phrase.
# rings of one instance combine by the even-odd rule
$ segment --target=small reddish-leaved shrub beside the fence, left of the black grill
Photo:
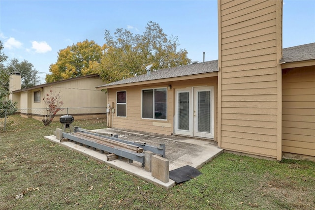
[[[45,104],[48,105],[49,111],[49,117],[46,115],[46,118],[42,120],[45,126],[49,125],[54,120],[57,112],[63,110],[61,108],[61,106],[63,105],[63,101],[61,100],[61,96],[59,95],[59,93],[55,95],[53,90],[50,90],[49,93],[45,95],[45,98],[43,98]]]

